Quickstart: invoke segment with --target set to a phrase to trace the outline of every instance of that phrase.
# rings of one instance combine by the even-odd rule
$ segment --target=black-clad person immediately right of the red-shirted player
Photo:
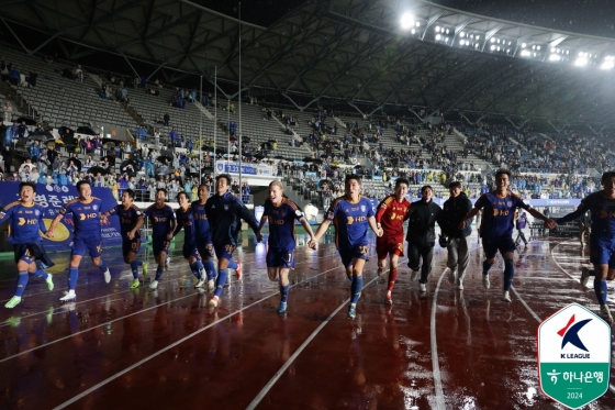
[[[436,222],[439,225],[441,208],[433,201],[434,190],[425,185],[421,188],[421,200],[413,202],[407,212],[409,223],[405,239],[407,241],[407,267],[412,269],[412,277],[421,268],[418,288],[427,291],[427,278],[432,272],[434,246],[436,245]],[[420,267],[421,258],[423,265]]]

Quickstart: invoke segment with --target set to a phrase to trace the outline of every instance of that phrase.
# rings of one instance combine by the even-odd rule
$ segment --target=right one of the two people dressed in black
[[[472,210],[472,202],[461,190],[461,182],[454,181],[448,186],[450,198],[444,202],[440,213],[441,237],[446,241],[448,261],[446,266],[450,269],[448,281],[452,285],[457,280],[457,288],[463,290],[463,278],[470,263],[470,242],[472,222],[460,230],[459,222]],[[457,273],[457,275],[456,275]]]

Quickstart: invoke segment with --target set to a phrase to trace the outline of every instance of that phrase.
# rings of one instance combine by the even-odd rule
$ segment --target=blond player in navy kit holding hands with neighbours
[[[280,306],[278,313],[284,313],[288,308],[290,290],[289,272],[294,268],[294,221],[301,222],[310,241],[316,243],[312,226],[299,207],[283,196],[283,186],[279,180],[269,184],[269,199],[265,201],[265,211],[260,219],[258,233],[269,222],[269,239],[267,240],[267,274],[269,280],[280,281]]]

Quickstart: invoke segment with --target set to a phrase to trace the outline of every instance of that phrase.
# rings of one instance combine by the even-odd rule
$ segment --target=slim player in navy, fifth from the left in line
[[[192,274],[199,279],[195,288],[202,288],[205,282],[205,269],[201,263],[201,255],[197,250],[197,234],[195,223],[192,209],[190,208],[190,198],[187,192],[179,192],[177,195],[177,202],[179,208],[176,211],[177,228],[175,229],[174,236],[183,228],[183,257],[188,259]]]

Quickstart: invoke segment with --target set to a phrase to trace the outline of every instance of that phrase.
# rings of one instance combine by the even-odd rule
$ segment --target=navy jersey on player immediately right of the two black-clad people
[[[517,208],[528,210],[532,207],[525,203],[519,196],[506,191],[503,197],[495,195],[495,192],[482,195],[474,203],[474,208],[484,210],[481,236],[500,237],[513,235]]]

